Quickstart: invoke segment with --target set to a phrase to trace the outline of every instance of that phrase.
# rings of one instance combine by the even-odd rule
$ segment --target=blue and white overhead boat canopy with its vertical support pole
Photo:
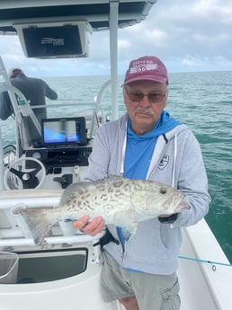
[[[157,0],[0,0],[0,34],[16,34],[21,40],[24,54],[30,56],[30,47],[26,47],[23,28],[40,28],[41,23],[66,24],[87,22],[93,31],[110,30],[111,80],[112,80],[112,120],[117,119],[117,29],[132,26],[146,19]],[[40,24],[40,25],[39,25]],[[118,27],[117,27],[118,26]],[[86,32],[86,31],[85,31]],[[86,33],[85,33],[86,34]],[[46,33],[45,33],[46,35]],[[85,36],[82,36],[85,38]],[[46,38],[42,38],[42,41]],[[48,39],[48,38],[47,38]],[[53,42],[54,38],[51,42]],[[60,38],[58,38],[60,39]],[[27,40],[31,42],[32,40]],[[47,42],[46,43],[50,43]],[[80,46],[86,46],[87,39],[81,40]],[[38,49],[32,44],[34,49]],[[58,55],[33,55],[36,58],[48,58]],[[70,53],[69,53],[70,54]],[[77,55],[76,55],[77,54]],[[87,48],[75,55],[60,57],[87,56]]]

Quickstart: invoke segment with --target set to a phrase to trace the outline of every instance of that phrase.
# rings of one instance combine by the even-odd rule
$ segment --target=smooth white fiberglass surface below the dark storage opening
[[[99,265],[92,263],[85,273],[68,279],[0,285],[0,298],[1,310],[119,309],[116,303],[103,303],[99,294]]]

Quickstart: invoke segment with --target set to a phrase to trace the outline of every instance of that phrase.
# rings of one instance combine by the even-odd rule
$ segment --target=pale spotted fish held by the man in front
[[[132,236],[138,222],[190,208],[184,197],[183,192],[160,182],[114,175],[70,184],[61,194],[58,206],[20,206],[13,208],[13,215],[24,218],[35,244],[41,244],[59,221],[82,216],[89,216],[90,220],[101,216],[105,225],[122,227],[126,235]]]

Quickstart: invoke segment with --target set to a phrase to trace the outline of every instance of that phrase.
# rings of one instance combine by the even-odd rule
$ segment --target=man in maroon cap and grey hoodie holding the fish
[[[164,110],[168,76],[160,59],[131,61],[122,87],[127,114],[98,130],[86,181],[121,174],[163,182],[184,192],[190,209],[139,223],[136,235],[129,240],[119,227],[108,226],[119,243],[104,246],[103,300],[118,299],[127,310],[177,310],[181,227],[194,225],[209,210],[201,149],[191,130]],[[96,235],[104,222],[102,217],[89,222],[85,216],[73,226]]]

